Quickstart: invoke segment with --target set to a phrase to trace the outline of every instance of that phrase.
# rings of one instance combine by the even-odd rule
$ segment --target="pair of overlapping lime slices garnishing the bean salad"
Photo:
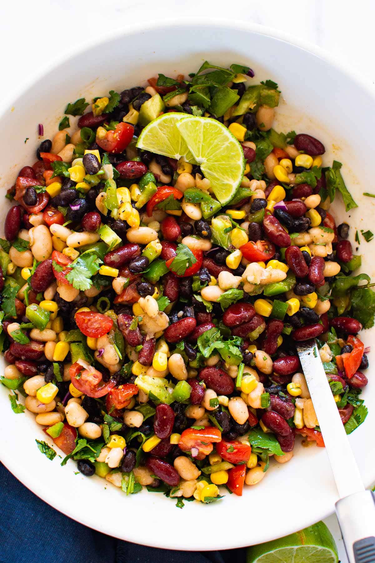
[[[170,112],[144,127],[138,149],[199,164],[222,205],[242,182],[245,157],[236,137],[216,119]]]

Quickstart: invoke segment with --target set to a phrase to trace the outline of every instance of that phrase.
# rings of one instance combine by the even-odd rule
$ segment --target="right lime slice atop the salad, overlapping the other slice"
[[[240,143],[222,123],[189,115],[176,123],[216,198],[228,203],[242,182],[245,158]]]

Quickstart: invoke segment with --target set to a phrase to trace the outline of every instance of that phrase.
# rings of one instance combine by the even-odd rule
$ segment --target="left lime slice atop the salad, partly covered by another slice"
[[[138,137],[137,148],[150,150],[151,153],[162,154],[165,157],[196,164],[196,160],[183,140],[176,124],[187,117],[187,113],[170,111],[160,115],[142,130]]]

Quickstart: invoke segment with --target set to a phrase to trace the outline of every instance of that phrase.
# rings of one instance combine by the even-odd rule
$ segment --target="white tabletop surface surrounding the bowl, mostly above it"
[[[207,20],[232,17],[270,26],[341,57],[349,68],[367,75],[372,82],[375,78],[375,3],[371,0],[357,0],[355,10],[351,2],[338,0],[267,0],[263,5],[254,0],[18,0],[3,3],[1,14],[2,96],[7,98],[33,78],[35,69],[40,72],[74,46],[100,37],[101,30],[106,33],[128,28],[134,22],[178,15]],[[287,79],[287,66],[285,73]],[[301,69],[301,77],[306,80],[308,69]],[[304,510],[303,503],[296,510]],[[347,563],[336,517],[325,522],[335,537],[342,563]]]

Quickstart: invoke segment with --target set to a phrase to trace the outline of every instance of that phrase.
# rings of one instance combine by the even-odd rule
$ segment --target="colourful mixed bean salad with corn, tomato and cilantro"
[[[6,196],[0,349],[11,408],[35,414],[49,459],[180,508],[241,496],[295,441],[324,446],[296,352],[308,338],[347,434],[364,421],[375,293],[330,207],[357,205],[322,142],[273,129],[279,96],[205,62],[67,104],[52,140],[39,126]],[[200,164],[137,148],[169,112],[241,145],[228,202]]]

